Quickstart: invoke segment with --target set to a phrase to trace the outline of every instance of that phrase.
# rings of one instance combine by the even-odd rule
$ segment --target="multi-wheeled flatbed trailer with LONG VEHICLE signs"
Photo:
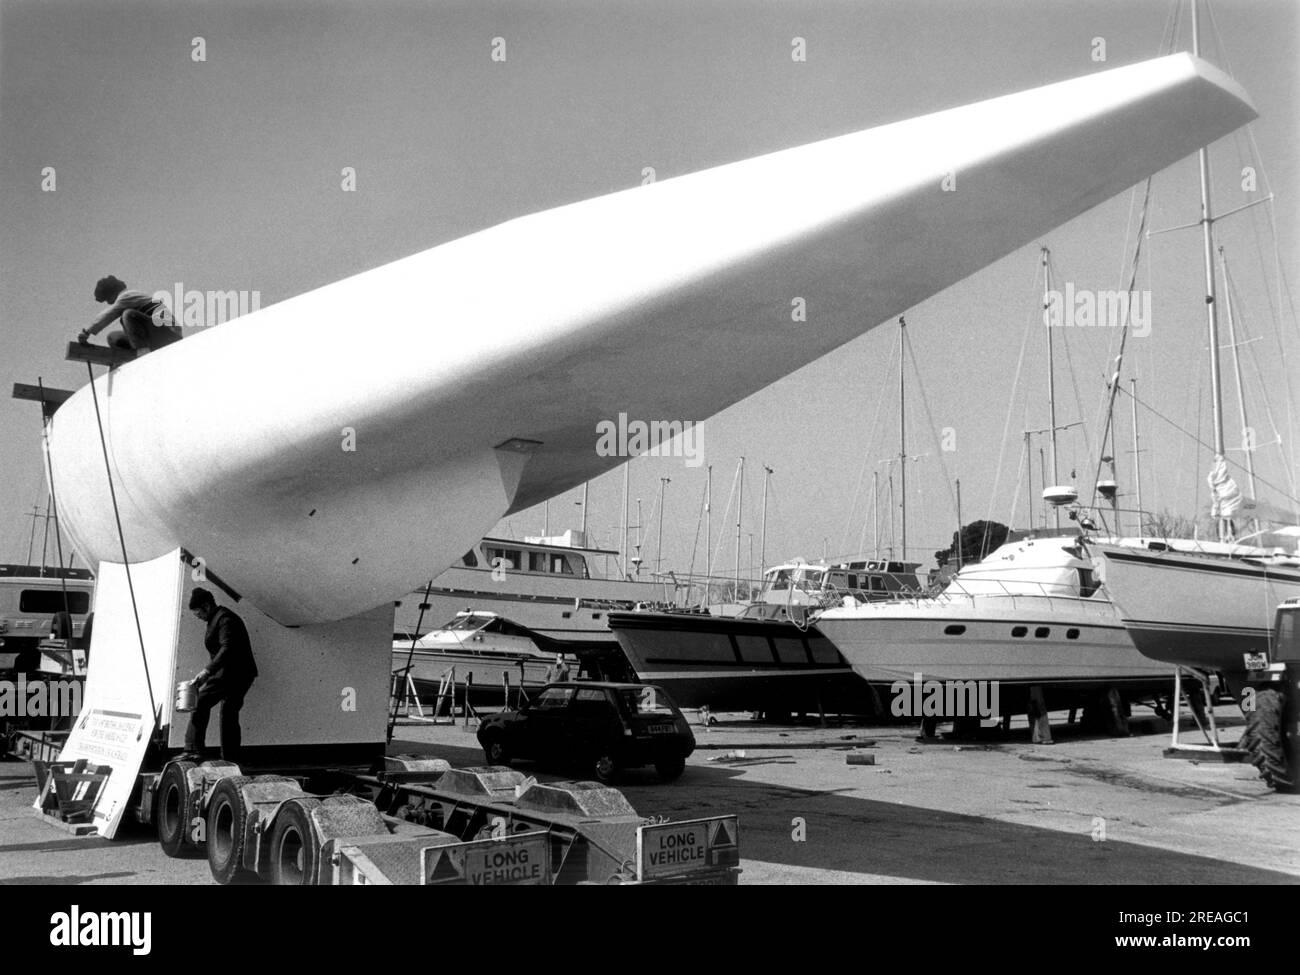
[[[170,760],[136,819],[221,884],[736,884],[734,815],[651,823],[598,783],[389,758],[384,771],[244,775]]]

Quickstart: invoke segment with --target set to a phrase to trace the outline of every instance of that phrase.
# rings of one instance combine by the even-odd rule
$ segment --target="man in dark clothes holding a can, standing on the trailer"
[[[202,760],[212,708],[221,705],[221,758],[237,762],[239,753],[239,708],[248,688],[257,679],[252,644],[243,620],[217,601],[207,589],[190,593],[190,610],[207,625],[203,645],[212,660],[195,675],[199,701],[185,733],[185,755]]]

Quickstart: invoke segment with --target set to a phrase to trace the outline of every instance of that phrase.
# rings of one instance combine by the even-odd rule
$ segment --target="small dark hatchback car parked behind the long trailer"
[[[608,784],[649,764],[667,781],[679,777],[696,736],[663,688],[581,680],[547,684],[517,711],[484,718],[478,744],[490,766],[516,758],[577,766]]]

